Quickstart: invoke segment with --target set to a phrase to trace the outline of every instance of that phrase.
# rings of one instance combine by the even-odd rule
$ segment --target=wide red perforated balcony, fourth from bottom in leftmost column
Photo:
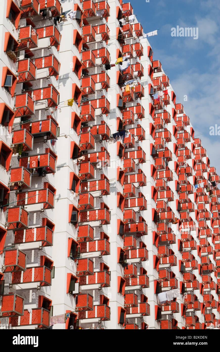
[[[55,194],[48,188],[17,193],[17,205],[44,203],[43,209],[54,208]]]

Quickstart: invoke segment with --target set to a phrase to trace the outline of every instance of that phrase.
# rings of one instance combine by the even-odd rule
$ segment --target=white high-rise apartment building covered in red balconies
[[[1,5],[0,324],[219,328],[220,178],[131,4]]]

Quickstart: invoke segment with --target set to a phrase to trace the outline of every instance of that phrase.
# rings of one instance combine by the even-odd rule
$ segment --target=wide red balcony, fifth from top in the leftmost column
[[[31,123],[31,134],[34,137],[46,137],[46,139],[57,139],[57,122],[50,118]]]

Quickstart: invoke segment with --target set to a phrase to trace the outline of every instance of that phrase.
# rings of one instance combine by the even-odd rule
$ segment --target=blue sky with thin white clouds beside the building
[[[220,126],[220,1],[130,0],[144,33],[160,29],[148,41],[169,77],[176,102],[183,104],[206,149],[210,165],[220,174],[220,136],[209,127]],[[198,39],[172,37],[172,27],[198,27]],[[183,96],[187,95],[187,101]]]

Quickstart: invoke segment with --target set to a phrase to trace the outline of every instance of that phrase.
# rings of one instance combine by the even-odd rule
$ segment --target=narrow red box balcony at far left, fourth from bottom
[[[10,182],[11,190],[31,187],[31,173],[23,166],[11,169]]]

